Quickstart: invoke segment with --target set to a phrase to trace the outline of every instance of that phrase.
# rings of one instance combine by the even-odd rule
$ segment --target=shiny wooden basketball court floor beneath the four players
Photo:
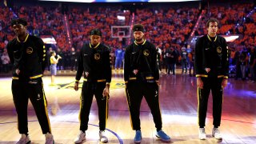
[[[74,143],[79,131],[79,96],[81,89],[74,91],[74,76],[57,76],[58,85],[50,86],[50,77],[43,78],[50,123],[56,144]],[[82,82],[82,81],[81,81]],[[224,90],[222,110],[223,136],[218,141],[211,136],[212,102],[209,98],[206,119],[207,139],[198,139],[197,117],[197,87],[196,82],[188,74],[176,76],[162,74],[160,80],[160,106],[162,110],[163,130],[171,137],[171,143],[256,143],[256,84],[230,78],[229,85]],[[11,78],[0,78],[0,143],[12,144],[18,141],[17,116],[10,90]],[[82,86],[82,83],[81,83]],[[95,100],[95,99],[94,99]],[[130,116],[126,103],[122,71],[113,72],[110,87],[110,111],[107,121],[106,135],[109,143],[133,143],[134,130],[131,130]],[[45,142],[42,130],[29,104],[29,130],[32,143]],[[142,143],[164,143],[154,136],[155,128],[150,109],[143,99],[141,106]],[[98,110],[94,101],[90,111],[89,129],[86,131],[86,142],[98,141]]]

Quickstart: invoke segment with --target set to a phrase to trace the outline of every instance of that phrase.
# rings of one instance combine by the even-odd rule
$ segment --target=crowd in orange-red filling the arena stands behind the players
[[[218,18],[221,26],[218,34],[239,35],[230,47],[230,74],[235,78],[246,79],[252,77],[251,66],[255,58],[256,43],[256,13],[253,3],[222,3],[210,5],[206,14],[198,6],[145,6],[134,11],[122,10],[122,6],[74,6],[68,12],[62,12],[62,6],[14,6],[11,10],[6,6],[0,7],[0,71],[8,73],[11,69],[10,58],[6,53],[6,44],[14,38],[10,27],[13,18],[26,18],[29,22],[27,30],[35,36],[50,35],[57,44],[53,48],[62,56],[59,70],[73,69],[83,42],[89,41],[89,31],[97,27],[102,31],[102,42],[111,48],[113,64],[116,50],[124,48],[133,38],[112,38],[111,26],[131,26],[142,23],[146,29],[146,39],[158,48],[160,69],[167,74],[175,74],[175,65],[182,66],[182,73],[186,74],[193,68],[194,45],[188,39],[195,23],[199,26],[194,36],[206,34],[204,24],[207,18]],[[117,15],[125,16],[125,22],[120,23]],[[201,19],[198,19],[199,16]],[[68,36],[70,35],[70,39]],[[48,48],[50,51],[50,49]],[[48,51],[48,54],[50,54]],[[174,55],[170,59],[170,55]],[[122,57],[123,54],[120,55]],[[122,66],[119,66],[119,68]],[[168,68],[169,67],[169,68]],[[173,68],[172,68],[173,67]],[[244,67],[245,70],[244,70]],[[113,68],[117,68],[113,65]],[[187,68],[189,68],[187,70]],[[75,69],[75,68],[74,68]],[[254,66],[255,69],[255,66]],[[253,70],[255,73],[255,70]],[[193,75],[190,73],[190,75]],[[232,75],[230,75],[232,76]],[[254,80],[252,78],[251,80]],[[254,81],[253,81],[254,82]]]

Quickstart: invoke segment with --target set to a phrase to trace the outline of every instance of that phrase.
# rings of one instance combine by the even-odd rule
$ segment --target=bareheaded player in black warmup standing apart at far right
[[[206,139],[205,123],[210,90],[213,96],[214,128],[212,136],[222,139],[218,130],[222,117],[223,89],[229,74],[228,46],[225,38],[217,35],[218,20],[210,18],[206,23],[208,34],[198,38],[195,46],[194,68],[198,86],[199,138]]]

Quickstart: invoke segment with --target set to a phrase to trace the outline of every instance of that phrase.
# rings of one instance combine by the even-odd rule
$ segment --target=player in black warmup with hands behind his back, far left
[[[13,64],[12,94],[18,115],[18,131],[22,138],[17,143],[30,143],[28,135],[28,100],[34,106],[42,134],[46,134],[46,144],[54,143],[50,130],[46,96],[42,85],[42,74],[46,68],[46,49],[41,38],[26,33],[27,22],[23,18],[11,21],[17,35],[7,45]]]

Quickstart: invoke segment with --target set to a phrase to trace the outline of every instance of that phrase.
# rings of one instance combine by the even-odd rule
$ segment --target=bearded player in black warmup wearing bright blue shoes
[[[131,126],[136,130],[134,142],[142,141],[139,109],[143,96],[150,106],[157,129],[156,136],[170,142],[170,137],[162,131],[162,116],[158,99],[158,58],[155,46],[144,39],[144,27],[134,25],[135,41],[126,47],[124,79],[126,97],[130,110]]]

